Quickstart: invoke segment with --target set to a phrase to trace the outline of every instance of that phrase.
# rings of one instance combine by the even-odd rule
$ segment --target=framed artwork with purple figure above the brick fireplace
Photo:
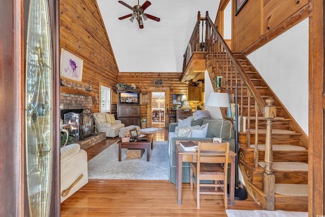
[[[62,48],[60,62],[60,73],[62,77],[75,81],[81,81],[83,59]]]

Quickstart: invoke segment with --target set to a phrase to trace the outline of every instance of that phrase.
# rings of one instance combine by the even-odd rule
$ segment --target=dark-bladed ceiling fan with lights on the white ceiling
[[[140,28],[143,28],[142,18],[144,20],[147,20],[149,18],[149,19],[155,20],[157,22],[160,21],[160,18],[155,17],[155,16],[152,16],[152,15],[147,14],[147,13],[144,13],[144,10],[146,10],[151,5],[151,2],[149,2],[149,1],[146,1],[145,3],[143,3],[143,5],[140,5],[139,4],[139,0],[138,0],[138,5],[135,5],[133,7],[127,5],[123,1],[118,1],[118,2],[133,11],[132,14],[127,14],[125,16],[119,17],[118,18],[119,20],[122,20],[122,19],[125,19],[125,18],[128,18],[128,17],[131,17],[129,20],[131,22],[133,22],[134,19],[137,19]]]

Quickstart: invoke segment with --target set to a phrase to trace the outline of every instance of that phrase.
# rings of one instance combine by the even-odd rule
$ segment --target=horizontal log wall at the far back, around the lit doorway
[[[117,77],[117,82],[132,84],[134,83],[142,92],[144,96],[150,89],[154,88],[154,79],[161,78],[163,79],[163,86],[161,88],[169,88],[169,95],[166,96],[166,100],[169,100],[170,110],[172,105],[172,95],[173,94],[186,94],[187,95],[187,86],[186,83],[180,82],[181,73],[145,73],[145,72],[120,72]],[[159,88],[157,88],[159,91]],[[163,90],[161,90],[163,91]],[[142,99],[144,100],[144,99]],[[147,102],[142,103],[141,106],[141,116],[147,116]]]

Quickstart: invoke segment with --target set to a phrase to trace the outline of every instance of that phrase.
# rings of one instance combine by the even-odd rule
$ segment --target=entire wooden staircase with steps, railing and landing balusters
[[[208,13],[199,12],[183,69],[201,44],[212,85],[222,76],[214,91],[238,96],[238,164],[248,194],[265,210],[308,211],[308,136],[247,57],[233,53]]]

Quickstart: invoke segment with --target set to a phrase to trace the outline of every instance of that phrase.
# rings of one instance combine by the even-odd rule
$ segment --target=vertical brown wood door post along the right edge
[[[309,204],[308,215],[324,210],[324,1],[309,0]]]

